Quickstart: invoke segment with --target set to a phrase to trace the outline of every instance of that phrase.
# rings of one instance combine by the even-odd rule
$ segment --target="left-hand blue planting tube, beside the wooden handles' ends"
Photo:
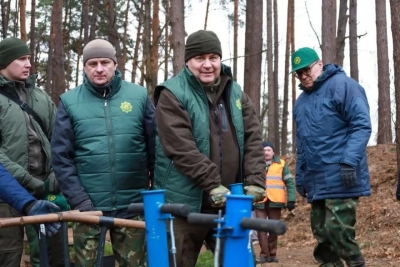
[[[169,214],[161,213],[165,190],[142,191],[149,267],[169,267],[167,224]]]

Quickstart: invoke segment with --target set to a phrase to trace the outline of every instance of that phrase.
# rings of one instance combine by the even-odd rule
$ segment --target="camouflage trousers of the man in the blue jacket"
[[[321,266],[365,266],[355,240],[358,198],[317,200],[311,204],[311,229],[318,243],[315,259]]]

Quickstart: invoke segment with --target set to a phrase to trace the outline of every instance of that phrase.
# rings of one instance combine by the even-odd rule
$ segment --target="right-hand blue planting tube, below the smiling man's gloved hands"
[[[250,230],[240,226],[243,218],[251,217],[252,202],[252,196],[226,195],[223,266],[254,266],[253,252],[249,243]]]

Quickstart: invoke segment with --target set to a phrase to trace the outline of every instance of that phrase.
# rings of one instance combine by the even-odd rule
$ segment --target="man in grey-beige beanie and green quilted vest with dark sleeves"
[[[122,79],[107,40],[87,43],[83,63],[83,83],[60,96],[51,140],[60,188],[73,210],[143,220],[126,209],[143,202],[153,179],[154,106],[146,88]],[[144,230],[113,227],[110,235],[119,266],[146,266]],[[96,225],[74,225],[75,266],[96,265],[99,236]]]

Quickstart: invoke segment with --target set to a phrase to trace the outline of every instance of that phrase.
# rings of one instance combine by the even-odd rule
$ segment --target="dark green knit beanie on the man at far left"
[[[0,42],[0,70],[6,68],[12,61],[25,55],[30,55],[28,46],[21,39],[10,37]]]

